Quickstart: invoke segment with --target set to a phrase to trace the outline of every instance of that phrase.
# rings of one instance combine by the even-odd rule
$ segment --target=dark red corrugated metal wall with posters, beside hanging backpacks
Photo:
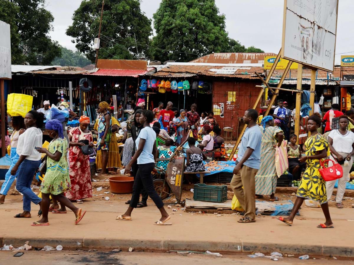
[[[245,111],[253,107],[259,94],[259,89],[256,85],[259,85],[258,80],[237,80],[237,81],[214,81],[213,82],[213,110],[215,112],[215,106],[218,107],[224,104],[224,117],[220,117],[219,114],[215,114],[221,128],[231,127],[234,129],[233,138],[237,139],[239,130],[239,117],[242,118]],[[229,93],[235,92],[235,101],[228,102]],[[259,111],[258,104],[257,111]]]

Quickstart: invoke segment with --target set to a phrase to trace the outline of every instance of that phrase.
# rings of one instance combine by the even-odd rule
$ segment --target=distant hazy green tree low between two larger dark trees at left
[[[56,57],[52,61],[52,65],[61,65],[61,66],[80,66],[84,67],[91,64],[91,61],[87,59],[80,52],[74,52],[65,47],[61,47],[62,53],[61,56]]]

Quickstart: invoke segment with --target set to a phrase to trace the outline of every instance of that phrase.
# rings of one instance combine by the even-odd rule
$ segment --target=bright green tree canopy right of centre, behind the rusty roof
[[[162,0],[153,15],[156,36],[150,57],[190,61],[212,52],[253,52],[229,38],[215,0]]]

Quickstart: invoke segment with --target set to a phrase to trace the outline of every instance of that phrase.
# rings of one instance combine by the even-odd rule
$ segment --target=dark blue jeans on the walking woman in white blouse
[[[23,194],[23,211],[31,211],[31,201],[34,204],[39,204],[42,200],[31,190],[33,176],[40,163],[41,160],[25,159],[17,169],[16,189]]]

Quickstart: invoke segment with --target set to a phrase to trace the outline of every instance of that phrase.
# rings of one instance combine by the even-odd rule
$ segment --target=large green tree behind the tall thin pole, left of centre
[[[93,39],[98,35],[101,7],[102,0],[82,1],[74,12],[73,24],[66,32],[74,38],[73,43],[76,43],[78,51],[85,53],[92,62],[96,56],[92,46]],[[144,58],[151,34],[151,20],[141,12],[140,1],[104,1],[99,58]]]

